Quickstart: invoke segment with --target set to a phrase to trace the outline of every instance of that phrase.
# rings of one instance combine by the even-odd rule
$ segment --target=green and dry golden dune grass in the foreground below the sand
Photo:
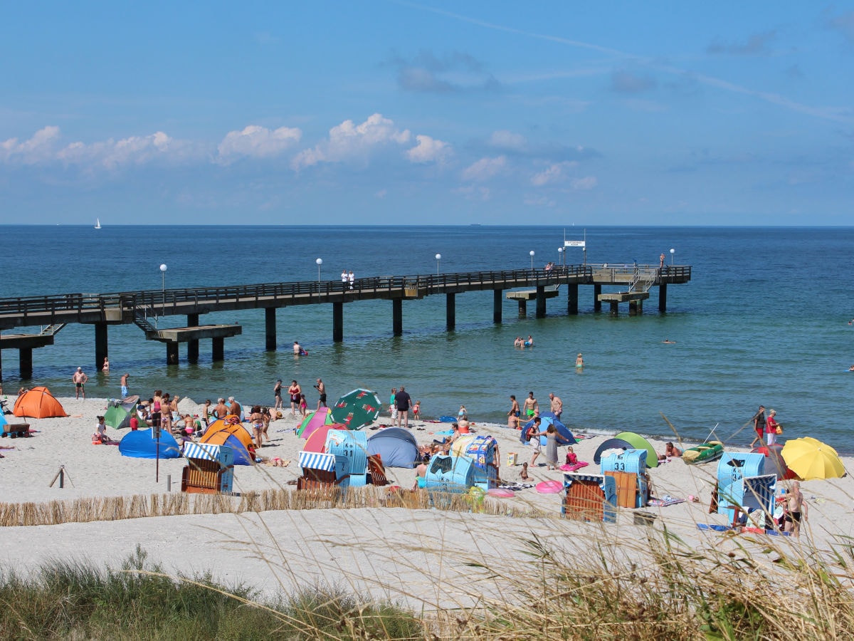
[[[303,585],[265,601],[245,585],[215,585],[209,574],[168,576],[148,567],[137,548],[114,570],[55,562],[27,577],[3,574],[0,637],[851,638],[854,545],[847,538],[829,550],[725,537],[698,549],[650,528],[636,545],[616,543],[605,537],[570,556],[534,535],[519,542],[528,561],[509,566],[436,550],[477,573],[472,585],[457,586],[477,602],[434,608],[424,601],[419,611],[342,585]]]

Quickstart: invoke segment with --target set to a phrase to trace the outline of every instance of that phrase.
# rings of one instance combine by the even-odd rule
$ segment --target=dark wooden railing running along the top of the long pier
[[[50,325],[61,322],[132,322],[134,311],[149,309],[158,315],[177,315],[216,309],[348,302],[371,298],[423,297],[460,291],[513,289],[561,284],[591,284],[594,273],[609,273],[613,284],[638,268],[658,274],[655,285],[684,283],[691,279],[690,266],[636,266],[600,263],[554,265],[552,268],[485,270],[476,272],[374,276],[344,283],[336,280],[303,280],[254,285],[170,288],[120,291],[105,294],[69,293],[53,296],[0,298],[0,328]],[[599,282],[599,281],[598,281]],[[108,311],[114,315],[110,316]],[[115,314],[118,313],[118,316]],[[198,313],[198,312],[195,312]]]

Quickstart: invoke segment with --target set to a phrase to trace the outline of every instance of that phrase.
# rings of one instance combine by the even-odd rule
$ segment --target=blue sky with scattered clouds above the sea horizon
[[[0,223],[850,225],[854,3],[0,3]]]

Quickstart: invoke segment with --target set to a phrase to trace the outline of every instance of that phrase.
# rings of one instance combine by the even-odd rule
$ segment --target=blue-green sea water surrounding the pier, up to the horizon
[[[783,438],[812,436],[851,454],[854,227],[705,226],[0,226],[5,257],[0,297],[106,293],[197,286],[340,279],[493,269],[542,268],[547,262],[690,265],[686,285],[670,285],[666,312],[653,288],[642,315],[621,305],[594,311],[594,289],[579,288],[579,313],[565,291],[547,301],[545,318],[527,317],[506,300],[493,322],[491,291],[456,297],[456,328],[446,330],[445,297],[403,303],[395,337],[392,303],[344,306],[344,340],[332,341],[330,305],[279,309],[278,350],[265,350],[264,312],[203,315],[243,334],[225,340],[225,361],[166,365],[163,344],[137,326],[109,327],[110,373],[95,371],[95,331],[69,325],[54,345],[33,351],[33,378],[20,379],[17,350],[2,354],[3,391],[47,385],[73,395],[79,366],[90,397],[117,397],[122,373],[131,393],[155,389],[190,397],[234,396],[272,403],[276,379],[300,382],[310,407],[321,378],[330,400],[353,390],[387,401],[405,385],[427,419],[456,415],[506,424],[510,395],[533,391],[541,409],[553,392],[574,432],[621,431],[728,444],[752,440],[761,403],[777,410]],[[584,240],[585,248],[564,240]],[[533,252],[533,256],[531,256]],[[437,258],[436,255],[441,257]],[[322,261],[318,265],[317,259]],[[166,271],[161,271],[166,265]],[[603,291],[614,291],[604,288]],[[160,326],[184,326],[164,317]],[[38,332],[38,328],[25,328]],[[514,338],[533,336],[531,349]],[[297,340],[308,356],[295,357]],[[664,343],[665,340],[671,341]],[[581,352],[584,367],[575,367]],[[387,420],[384,414],[381,420]]]

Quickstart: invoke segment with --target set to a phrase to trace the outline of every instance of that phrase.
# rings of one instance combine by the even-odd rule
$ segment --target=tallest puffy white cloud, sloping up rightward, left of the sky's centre
[[[408,129],[395,129],[394,121],[382,114],[371,115],[365,122],[355,125],[343,121],[330,129],[329,138],[312,149],[301,151],[293,160],[295,169],[311,167],[320,162],[364,161],[373,150],[388,145],[409,142]]]

